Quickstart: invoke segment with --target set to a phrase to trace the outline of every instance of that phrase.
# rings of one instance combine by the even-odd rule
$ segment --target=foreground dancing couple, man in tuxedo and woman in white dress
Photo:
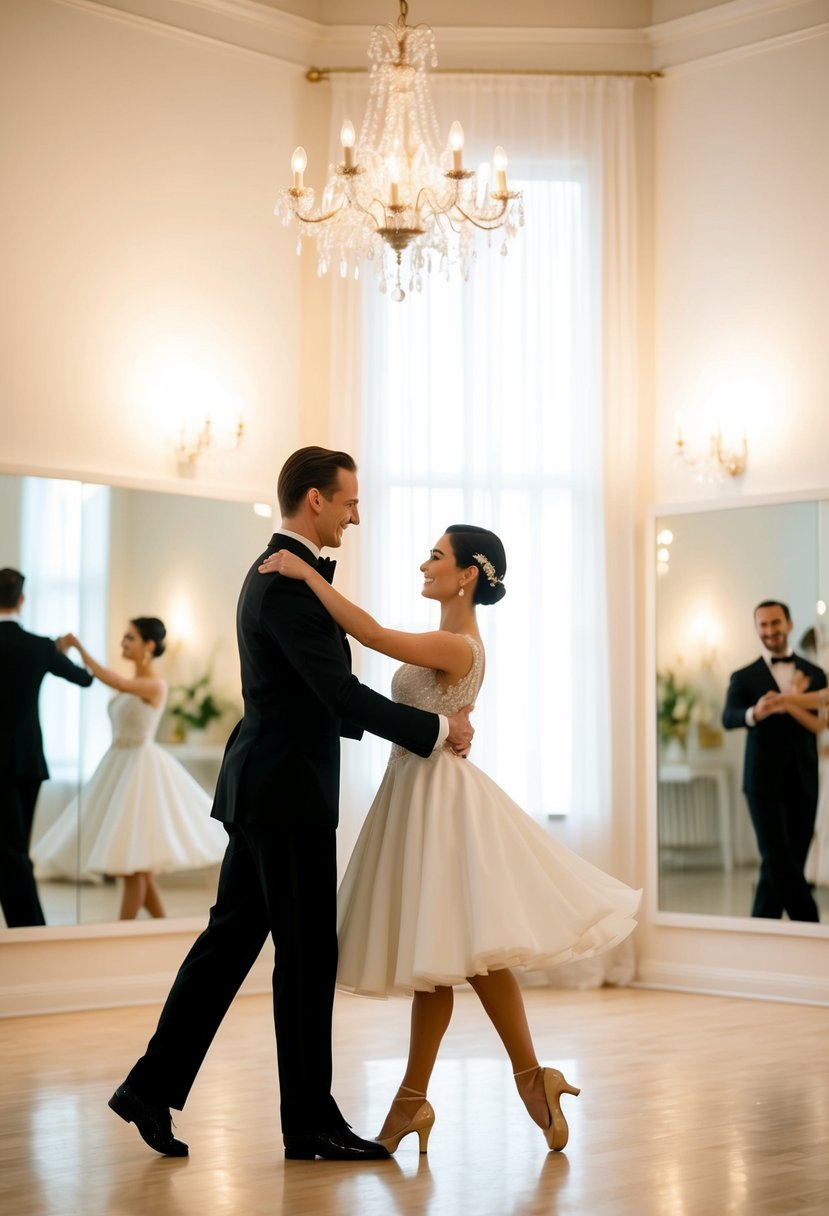
[[[300,449],[278,500],[282,525],[237,608],[244,716],[213,809],[230,837],[216,901],[109,1105],[151,1148],[187,1154],[170,1108],[184,1108],[270,935],[286,1158],[387,1158],[410,1133],[425,1152],[428,1083],[463,983],[503,1042],[528,1114],[562,1149],[560,1098],[579,1090],[540,1065],[512,968],[610,948],[635,928],[641,893],[553,840],[466,759],[484,676],[475,609],[504,595],[503,546],[483,528],[447,528],[421,565],[440,626],[389,630],[334,591],[334,563],[320,558],[360,523],[354,460]],[[351,674],[346,635],[404,664],[393,700]],[[338,897],[339,739],[363,731],[393,748]],[[332,1097],[335,985],[412,996],[408,1060],[377,1139],[356,1136]]]

